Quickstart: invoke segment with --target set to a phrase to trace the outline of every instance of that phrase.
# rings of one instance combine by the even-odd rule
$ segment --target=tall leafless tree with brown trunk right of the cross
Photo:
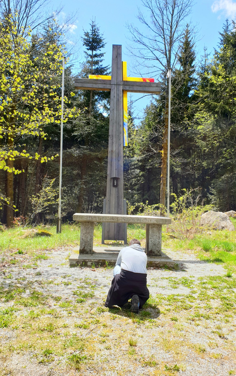
[[[192,10],[193,0],[142,0],[144,9],[138,9],[138,20],[147,28],[142,33],[134,24],[127,24],[131,33],[136,70],[145,69],[149,74],[166,76],[168,68],[174,68],[180,42],[185,33],[186,22]],[[146,12],[145,12],[146,11]],[[160,208],[165,206],[166,171],[168,148],[168,85],[165,95],[165,121],[162,136],[162,164],[160,183]],[[163,214],[163,210],[160,210]]]

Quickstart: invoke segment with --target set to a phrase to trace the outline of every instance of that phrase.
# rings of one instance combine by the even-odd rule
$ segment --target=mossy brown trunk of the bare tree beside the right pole
[[[165,126],[162,141],[162,165],[160,175],[160,215],[165,213],[165,196],[166,196],[166,171],[167,171],[167,153],[168,152],[168,95],[166,93],[165,101]]]

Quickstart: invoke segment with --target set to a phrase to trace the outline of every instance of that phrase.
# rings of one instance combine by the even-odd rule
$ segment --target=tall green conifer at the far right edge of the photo
[[[196,96],[195,139],[199,145],[205,186],[222,211],[236,208],[236,29],[228,21],[219,49],[200,74]],[[201,171],[201,174],[203,172]],[[224,197],[224,200],[222,200]]]

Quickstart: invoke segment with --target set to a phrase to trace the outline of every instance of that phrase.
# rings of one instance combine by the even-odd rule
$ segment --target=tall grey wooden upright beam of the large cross
[[[121,45],[112,46],[106,214],[124,214],[123,92]],[[113,177],[118,185],[113,186]],[[105,223],[105,240],[124,240],[124,223]]]

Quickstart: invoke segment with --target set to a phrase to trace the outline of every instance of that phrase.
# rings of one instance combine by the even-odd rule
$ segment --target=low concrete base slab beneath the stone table
[[[79,247],[76,247],[71,253],[69,262],[70,267],[76,266],[104,266],[106,262],[109,266],[115,266],[117,255],[123,247],[94,247],[92,255],[79,254]],[[174,260],[162,252],[161,256],[149,256],[148,267],[162,267],[164,265],[173,267]]]

